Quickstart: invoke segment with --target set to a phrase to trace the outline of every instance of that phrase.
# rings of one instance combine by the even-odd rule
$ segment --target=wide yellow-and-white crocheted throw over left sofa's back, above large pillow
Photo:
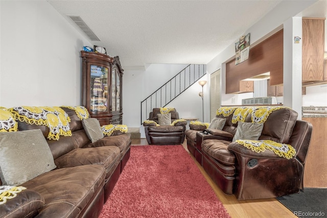
[[[66,112],[60,107],[18,106],[10,108],[16,120],[50,128],[48,139],[59,140],[59,136],[72,136]]]

